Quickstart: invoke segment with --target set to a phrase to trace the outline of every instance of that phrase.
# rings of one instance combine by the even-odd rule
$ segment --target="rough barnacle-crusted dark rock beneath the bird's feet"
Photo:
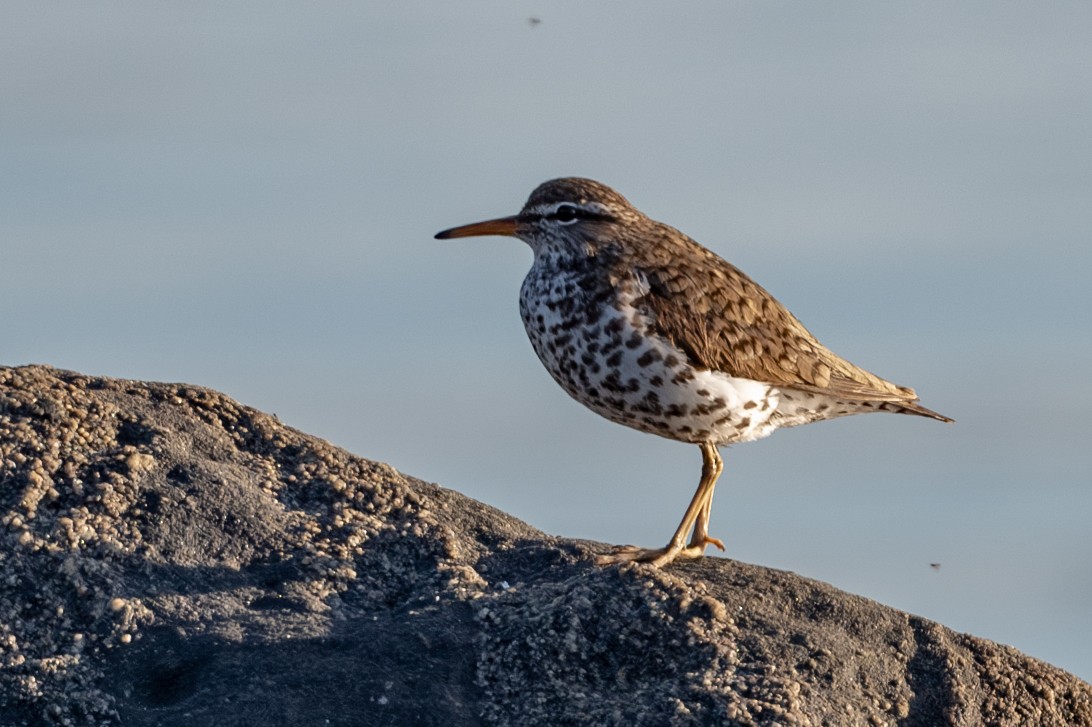
[[[591,564],[185,384],[0,368],[0,725],[1092,725],[792,573]]]

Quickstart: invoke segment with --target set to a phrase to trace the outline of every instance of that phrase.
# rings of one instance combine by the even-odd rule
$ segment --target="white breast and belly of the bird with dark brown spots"
[[[751,441],[776,428],[776,389],[693,367],[642,310],[648,281],[603,263],[539,255],[520,291],[531,344],[570,396],[612,421],[686,442]]]

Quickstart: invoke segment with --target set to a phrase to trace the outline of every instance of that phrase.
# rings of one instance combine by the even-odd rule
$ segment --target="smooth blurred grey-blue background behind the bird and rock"
[[[8,2],[0,365],[210,386],[658,546],[698,449],[550,380],[525,245],[432,239],[592,177],[957,419],[724,450],[727,555],[1092,680],[1090,32],[1084,2]]]

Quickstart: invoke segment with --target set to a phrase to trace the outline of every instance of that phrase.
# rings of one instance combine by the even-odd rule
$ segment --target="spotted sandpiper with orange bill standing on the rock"
[[[614,547],[600,564],[664,567],[724,550],[709,533],[720,446],[852,414],[952,421],[913,389],[824,347],[738,267],[606,184],[553,179],[519,214],[436,238],[488,235],[519,238],[534,253],[520,314],[555,381],[610,421],[701,450],[698,488],[667,545]]]

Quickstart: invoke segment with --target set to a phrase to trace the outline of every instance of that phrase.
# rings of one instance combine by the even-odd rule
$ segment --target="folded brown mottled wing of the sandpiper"
[[[850,400],[912,404],[917,398],[913,389],[885,381],[835,355],[740,270],[680,233],[675,235],[669,242],[673,251],[656,246],[634,261],[649,282],[639,305],[657,332],[691,362]]]

